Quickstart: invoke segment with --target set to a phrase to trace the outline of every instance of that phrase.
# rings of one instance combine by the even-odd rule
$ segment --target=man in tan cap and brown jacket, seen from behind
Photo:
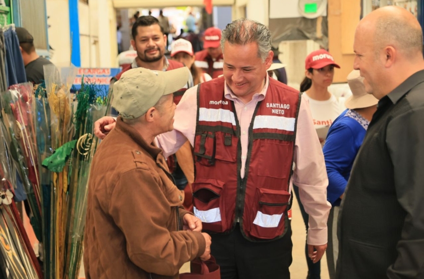
[[[211,237],[181,206],[184,197],[153,143],[173,130],[172,93],[188,79],[186,67],[137,68],[115,83],[112,106],[120,116],[94,155],[89,181],[87,279],[178,278],[184,263],[210,258]]]

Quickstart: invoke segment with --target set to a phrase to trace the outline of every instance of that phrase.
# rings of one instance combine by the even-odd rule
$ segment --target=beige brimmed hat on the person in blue
[[[379,100],[372,94],[365,91],[364,77],[361,77],[358,70],[353,70],[347,77],[349,88],[352,91],[346,102],[346,108],[350,110],[362,109],[377,105]]]

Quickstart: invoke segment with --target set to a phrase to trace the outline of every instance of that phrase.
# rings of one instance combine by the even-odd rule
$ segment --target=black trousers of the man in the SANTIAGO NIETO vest
[[[291,227],[280,239],[251,242],[239,224],[228,235],[211,234],[211,254],[221,270],[221,279],[290,279]]]

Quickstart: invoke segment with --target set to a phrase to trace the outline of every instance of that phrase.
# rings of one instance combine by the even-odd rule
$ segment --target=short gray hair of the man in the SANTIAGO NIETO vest
[[[265,61],[271,50],[271,32],[269,29],[255,20],[240,18],[227,24],[222,30],[221,49],[224,52],[224,43],[245,45],[256,42],[258,57]]]

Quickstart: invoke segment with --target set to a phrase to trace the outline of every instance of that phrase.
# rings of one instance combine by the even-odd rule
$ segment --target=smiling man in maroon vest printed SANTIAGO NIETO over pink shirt
[[[174,131],[157,140],[165,154],[194,147],[194,212],[211,232],[222,279],[290,278],[290,179],[309,214],[308,253],[327,247],[327,173],[307,100],[267,75],[271,34],[238,19],[222,31],[223,77],[186,91]],[[96,122],[104,137],[113,119]],[[106,126],[105,126],[106,125]]]

